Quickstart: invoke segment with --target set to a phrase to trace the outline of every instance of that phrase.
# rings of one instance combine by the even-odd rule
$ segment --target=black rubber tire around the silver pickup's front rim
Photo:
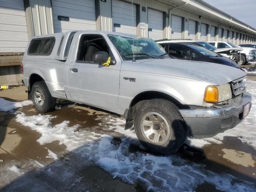
[[[143,134],[141,122],[148,112],[156,112],[162,115],[169,124],[170,136],[168,140],[161,145],[152,144]],[[186,124],[178,112],[178,107],[164,99],[152,99],[142,103],[135,112],[134,129],[143,146],[158,154],[171,154],[176,152],[180,146],[182,146],[187,136]]]

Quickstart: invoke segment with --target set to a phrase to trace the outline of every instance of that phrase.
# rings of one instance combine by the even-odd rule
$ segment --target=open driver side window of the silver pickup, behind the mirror
[[[93,55],[102,51],[109,54],[108,45],[102,36],[83,35],[80,38],[76,61],[93,63]]]

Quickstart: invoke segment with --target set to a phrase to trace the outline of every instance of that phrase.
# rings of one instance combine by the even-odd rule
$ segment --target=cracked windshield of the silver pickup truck
[[[166,52],[152,39],[108,35],[124,60],[163,58]]]

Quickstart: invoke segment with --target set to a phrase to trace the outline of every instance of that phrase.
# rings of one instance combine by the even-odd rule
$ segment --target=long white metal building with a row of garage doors
[[[0,56],[24,52],[32,36],[69,30],[256,44],[256,29],[202,0],[0,0],[0,18]]]

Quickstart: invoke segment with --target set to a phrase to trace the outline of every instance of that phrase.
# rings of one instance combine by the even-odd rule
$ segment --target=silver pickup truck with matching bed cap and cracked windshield
[[[211,137],[248,115],[246,73],[170,58],[152,39],[100,31],[34,37],[22,60],[29,98],[41,112],[56,98],[126,118],[148,149],[169,154],[187,135]]]

